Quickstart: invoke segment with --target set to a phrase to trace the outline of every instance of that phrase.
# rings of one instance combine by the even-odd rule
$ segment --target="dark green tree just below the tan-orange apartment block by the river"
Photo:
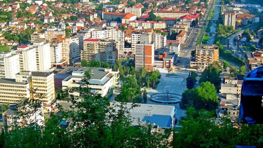
[[[220,70],[216,64],[209,65],[201,74],[199,83],[202,82],[211,82],[214,84],[217,90],[220,88],[221,78],[220,78]]]

